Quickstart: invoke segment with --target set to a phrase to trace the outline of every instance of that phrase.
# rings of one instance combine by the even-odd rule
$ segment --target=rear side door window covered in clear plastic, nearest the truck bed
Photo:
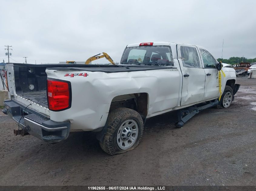
[[[195,47],[181,46],[181,59],[184,67],[201,68]]]

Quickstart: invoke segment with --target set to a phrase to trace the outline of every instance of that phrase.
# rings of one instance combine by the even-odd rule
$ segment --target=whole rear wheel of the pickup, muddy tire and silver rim
[[[117,108],[108,115],[107,133],[100,146],[108,154],[121,154],[136,148],[142,133],[141,115],[129,108]]]

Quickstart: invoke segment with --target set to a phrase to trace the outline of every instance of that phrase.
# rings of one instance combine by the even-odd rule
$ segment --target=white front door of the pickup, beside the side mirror
[[[205,72],[204,100],[214,99],[220,95],[216,69],[218,61],[207,50],[198,48]]]

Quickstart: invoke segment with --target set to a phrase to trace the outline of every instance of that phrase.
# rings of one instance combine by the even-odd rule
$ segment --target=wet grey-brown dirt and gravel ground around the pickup
[[[151,118],[140,145],[115,156],[91,132],[55,145],[14,136],[17,124],[1,113],[0,185],[256,185],[256,79],[237,83],[230,108],[205,110],[181,129],[174,113]]]

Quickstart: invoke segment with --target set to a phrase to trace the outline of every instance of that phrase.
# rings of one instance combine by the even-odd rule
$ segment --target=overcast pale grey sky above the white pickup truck
[[[102,52],[119,62],[127,44],[153,41],[196,44],[221,58],[223,39],[223,58],[256,57],[255,0],[0,2],[0,62],[5,45],[10,62],[85,61]]]

